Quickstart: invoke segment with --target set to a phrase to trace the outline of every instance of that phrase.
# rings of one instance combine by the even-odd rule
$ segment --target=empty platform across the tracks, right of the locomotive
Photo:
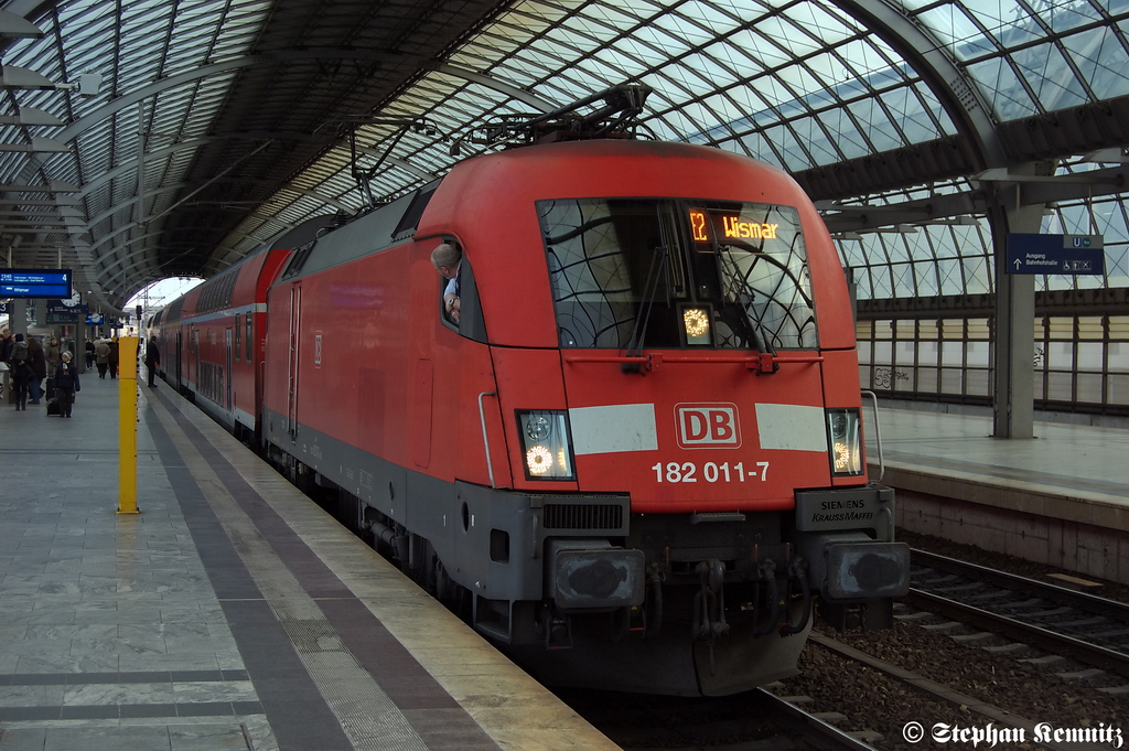
[[[879,405],[876,430],[873,416],[870,478],[898,491],[900,529],[1129,584],[1129,430],[1036,421],[1007,439],[990,417]]]

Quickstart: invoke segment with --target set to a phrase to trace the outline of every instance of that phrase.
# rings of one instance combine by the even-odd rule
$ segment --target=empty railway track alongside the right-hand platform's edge
[[[913,586],[903,602],[982,629],[961,640],[997,635],[1091,666],[1078,678],[1129,678],[1129,604],[920,550],[911,561]],[[1129,692],[1129,684],[1099,690]]]

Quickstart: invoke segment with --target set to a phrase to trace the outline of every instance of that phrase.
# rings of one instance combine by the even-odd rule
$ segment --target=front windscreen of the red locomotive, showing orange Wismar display
[[[539,201],[560,346],[819,346],[799,212],[673,199]]]

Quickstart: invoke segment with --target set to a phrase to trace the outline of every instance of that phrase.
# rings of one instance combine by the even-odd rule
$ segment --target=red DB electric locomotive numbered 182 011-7
[[[883,627],[908,588],[839,259],[773,167],[474,157],[295,244],[265,302],[268,454],[548,683],[750,689],[816,603]]]

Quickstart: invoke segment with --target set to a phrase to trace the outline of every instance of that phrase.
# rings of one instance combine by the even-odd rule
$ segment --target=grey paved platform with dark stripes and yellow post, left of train
[[[0,408],[0,751],[618,748],[160,382],[116,513],[121,383]]]

